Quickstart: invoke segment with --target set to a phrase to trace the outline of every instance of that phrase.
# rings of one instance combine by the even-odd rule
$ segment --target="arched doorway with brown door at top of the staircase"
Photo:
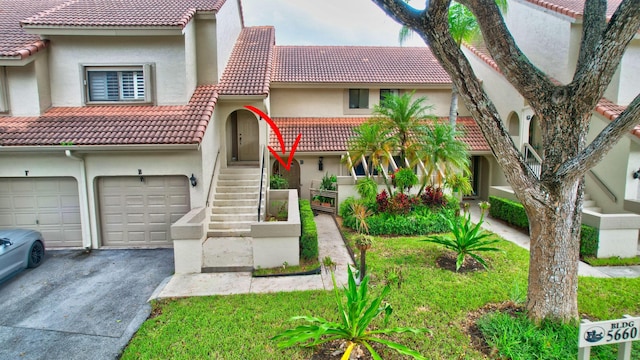
[[[247,110],[236,110],[227,118],[227,163],[255,163],[260,159],[258,119]]]

